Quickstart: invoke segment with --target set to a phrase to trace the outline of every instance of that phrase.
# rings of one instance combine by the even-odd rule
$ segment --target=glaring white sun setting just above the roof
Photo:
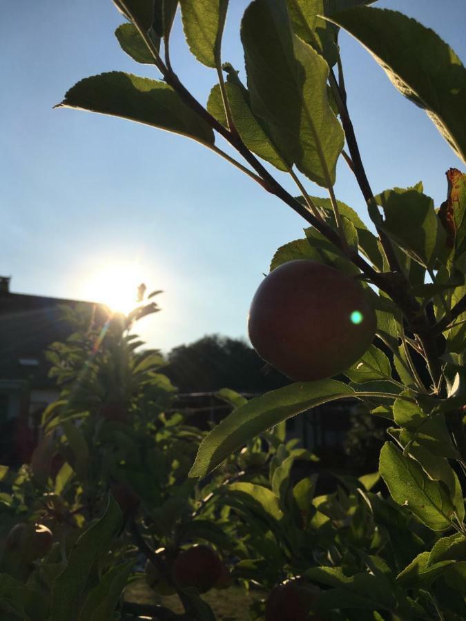
[[[86,297],[106,304],[115,313],[128,315],[139,306],[137,288],[144,282],[143,270],[138,264],[112,262],[90,277],[86,283]]]

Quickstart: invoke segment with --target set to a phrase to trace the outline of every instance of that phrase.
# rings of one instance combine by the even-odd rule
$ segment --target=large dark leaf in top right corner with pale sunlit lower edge
[[[466,161],[466,70],[452,48],[430,28],[396,11],[355,7],[329,20],[371,52],[391,83],[425,109]]]

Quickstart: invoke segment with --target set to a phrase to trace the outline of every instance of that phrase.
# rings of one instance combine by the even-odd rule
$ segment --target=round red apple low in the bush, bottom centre
[[[193,546],[177,555],[173,575],[179,586],[194,586],[206,593],[222,573],[222,561],[208,546]]]

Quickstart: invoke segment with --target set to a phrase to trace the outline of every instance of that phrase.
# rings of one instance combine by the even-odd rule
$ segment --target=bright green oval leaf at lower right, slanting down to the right
[[[385,442],[380,451],[379,470],[391,497],[426,526],[433,531],[452,526],[454,506],[443,486],[431,481],[418,462],[404,457],[391,442]]]

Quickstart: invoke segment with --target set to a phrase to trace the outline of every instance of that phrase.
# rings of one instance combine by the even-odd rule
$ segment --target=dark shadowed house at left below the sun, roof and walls
[[[77,304],[108,317],[103,304],[12,293],[10,277],[0,276],[0,464],[28,459],[39,414],[59,395],[44,352],[70,335],[63,307]]]

